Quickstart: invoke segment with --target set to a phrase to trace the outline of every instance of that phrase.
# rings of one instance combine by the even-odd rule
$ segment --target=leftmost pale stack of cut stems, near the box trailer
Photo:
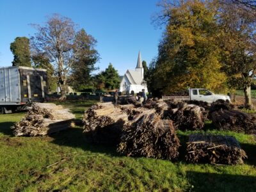
[[[63,106],[51,103],[31,104],[26,116],[13,125],[15,136],[39,136],[51,134],[71,127],[75,116]]]

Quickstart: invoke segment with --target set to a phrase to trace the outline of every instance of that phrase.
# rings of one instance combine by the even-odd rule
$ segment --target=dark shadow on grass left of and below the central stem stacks
[[[57,145],[81,148],[83,150],[105,153],[111,156],[120,156],[116,152],[116,145],[89,143],[82,128],[71,128],[59,133],[51,134],[50,136],[51,138],[54,138],[52,143]]]

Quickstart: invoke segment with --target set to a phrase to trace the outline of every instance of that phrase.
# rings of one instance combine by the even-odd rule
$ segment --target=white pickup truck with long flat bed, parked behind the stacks
[[[189,88],[189,96],[163,96],[162,99],[175,99],[175,100],[202,100],[208,103],[212,103],[216,100],[228,100],[228,95],[219,95],[205,90],[204,88]]]

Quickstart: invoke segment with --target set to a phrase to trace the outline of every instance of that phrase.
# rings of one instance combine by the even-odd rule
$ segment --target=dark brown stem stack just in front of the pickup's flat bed
[[[185,102],[168,102],[168,116],[173,120],[178,129],[200,130],[204,127],[204,121],[207,119],[207,111],[195,104],[186,104]]]

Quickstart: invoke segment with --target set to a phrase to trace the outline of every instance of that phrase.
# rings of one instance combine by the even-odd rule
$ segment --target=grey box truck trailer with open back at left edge
[[[31,67],[0,68],[0,113],[12,113],[29,102],[44,102],[47,70]]]

